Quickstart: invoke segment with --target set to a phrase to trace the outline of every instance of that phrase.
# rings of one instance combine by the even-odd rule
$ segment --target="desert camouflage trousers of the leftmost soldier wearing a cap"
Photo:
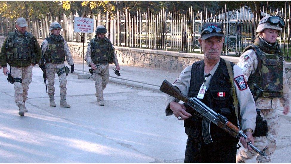
[[[14,101],[17,106],[19,104],[24,105],[27,100],[28,85],[32,81],[32,68],[32,65],[27,67],[11,67],[11,76],[22,79],[22,83],[14,82]]]

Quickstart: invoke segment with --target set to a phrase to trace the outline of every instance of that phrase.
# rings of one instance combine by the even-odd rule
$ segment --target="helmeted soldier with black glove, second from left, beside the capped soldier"
[[[46,61],[46,73],[48,80],[48,92],[49,95],[49,105],[51,107],[55,107],[55,73],[59,76],[60,82],[60,95],[61,101],[60,106],[64,108],[70,108],[71,106],[66,102],[66,70],[64,61],[71,66],[71,72],[74,72],[74,62],[71,56],[69,46],[64,38],[60,35],[62,27],[58,22],[53,22],[49,26],[49,30],[51,31],[49,37],[44,39],[42,42],[42,51],[44,54],[44,59]],[[66,59],[65,59],[66,57]],[[43,65],[41,63],[41,67],[43,69]]]

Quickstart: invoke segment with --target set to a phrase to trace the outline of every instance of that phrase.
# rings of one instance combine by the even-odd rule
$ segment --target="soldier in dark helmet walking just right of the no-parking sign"
[[[103,90],[109,82],[109,63],[116,65],[115,69],[120,70],[114,47],[108,38],[105,37],[107,30],[104,26],[97,26],[95,38],[90,40],[86,52],[86,62],[93,70],[95,80],[96,97],[98,104],[104,106]]]

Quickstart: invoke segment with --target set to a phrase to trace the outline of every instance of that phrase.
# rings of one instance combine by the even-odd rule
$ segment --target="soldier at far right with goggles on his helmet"
[[[266,156],[257,156],[257,163],[270,163],[270,156],[276,149],[276,138],[279,129],[278,108],[284,107],[283,113],[289,112],[289,86],[285,72],[285,61],[276,39],[284,22],[277,16],[265,16],[259,22],[258,35],[253,44],[248,46],[239,59],[238,66],[244,71],[244,77],[253,96],[259,96],[256,108],[260,110],[263,120],[267,120],[268,134],[254,137],[254,145],[262,150],[267,148]],[[257,85],[263,90],[258,95]],[[237,162],[244,163],[257,155],[254,151],[239,149]]]

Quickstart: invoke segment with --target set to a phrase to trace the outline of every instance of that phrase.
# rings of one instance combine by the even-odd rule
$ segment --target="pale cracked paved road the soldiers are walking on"
[[[69,74],[67,102],[72,107],[60,108],[56,75],[57,107],[51,108],[42,72],[35,67],[28,92],[28,112],[20,117],[13,98],[14,86],[3,73],[0,84],[1,163],[182,163],[184,160],[187,137],[183,122],[165,117],[165,95],[161,92],[109,83],[104,91],[105,106],[100,107],[94,81]],[[281,123],[273,162],[287,163],[291,161],[290,117],[281,116]]]

